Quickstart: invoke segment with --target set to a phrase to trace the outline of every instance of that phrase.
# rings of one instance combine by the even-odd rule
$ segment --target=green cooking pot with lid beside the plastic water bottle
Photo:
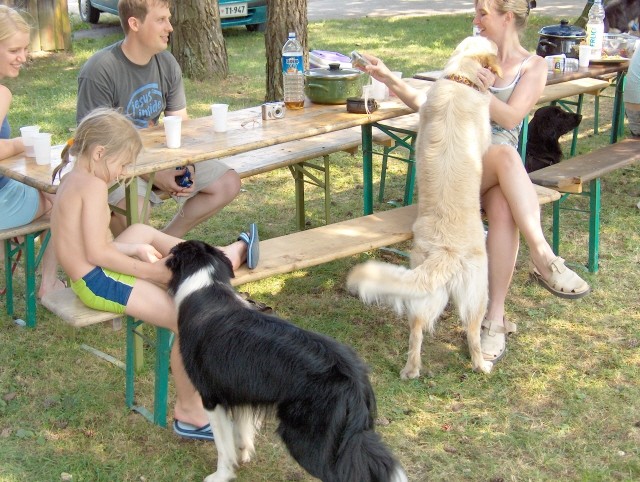
[[[304,93],[316,104],[346,104],[349,97],[360,97],[364,74],[358,69],[341,69],[339,63],[328,69],[309,69],[304,73]]]

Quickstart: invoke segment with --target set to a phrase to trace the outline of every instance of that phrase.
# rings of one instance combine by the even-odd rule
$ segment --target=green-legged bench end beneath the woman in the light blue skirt
[[[49,216],[41,216],[17,228],[0,230],[0,241],[4,243],[4,290],[9,316],[14,314],[13,272],[24,254],[25,324],[28,328],[36,326],[36,270],[49,242],[48,230]],[[41,240],[40,249],[36,251],[36,239],[44,232],[46,235]]]

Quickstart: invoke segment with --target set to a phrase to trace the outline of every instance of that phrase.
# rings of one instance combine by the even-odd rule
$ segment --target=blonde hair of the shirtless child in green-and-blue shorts
[[[142,151],[142,139],[133,123],[115,109],[98,108],[91,111],[78,128],[75,130],[74,138],[67,141],[67,145],[62,149],[60,157],[62,162],[53,171],[53,179],[69,163],[69,157],[76,159],[82,156],[89,158],[89,168],[95,168],[93,159],[90,157],[92,149],[96,146],[103,146],[106,159],[111,157],[124,156],[132,159],[136,158]]]

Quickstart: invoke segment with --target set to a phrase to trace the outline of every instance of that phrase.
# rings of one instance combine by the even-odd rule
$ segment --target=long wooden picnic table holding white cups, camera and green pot
[[[414,87],[425,90],[431,85],[430,82],[416,79],[409,79],[409,82]],[[135,166],[129,166],[124,174],[153,175],[157,171],[186,166],[207,159],[223,160],[227,156],[355,126],[365,126],[411,112],[409,107],[395,97],[380,102],[380,108],[371,114],[352,114],[347,112],[345,105],[313,104],[307,100],[303,109],[287,110],[283,119],[264,121],[261,116],[261,107],[257,106],[230,112],[226,132],[213,131],[211,116],[183,121],[182,145],[178,149],[166,147],[164,127],[160,125],[140,131],[144,150]],[[265,160],[257,159],[256,162],[263,163]],[[35,159],[19,154],[0,161],[0,174],[53,193],[57,189],[57,182],[52,183],[51,175],[56,164],[52,161],[50,165],[37,165]],[[265,166],[262,166],[263,171],[264,169]],[[365,197],[367,195],[372,197],[370,169],[368,171],[364,169],[364,171]],[[127,197],[135,200],[137,196],[137,183],[129,183]],[[130,205],[136,206],[137,203],[133,202]],[[140,213],[130,211],[126,214],[130,223],[140,219]]]

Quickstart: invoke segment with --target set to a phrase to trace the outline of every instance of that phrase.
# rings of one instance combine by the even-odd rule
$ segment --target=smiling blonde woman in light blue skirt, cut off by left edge
[[[30,30],[29,24],[18,11],[0,5],[0,79],[17,77],[20,73],[20,68],[27,61]],[[11,127],[7,113],[11,100],[11,91],[0,85],[0,159],[24,151],[21,137],[10,139]],[[0,175],[0,229],[17,228],[48,213],[53,199],[51,194]],[[4,259],[4,242],[0,242],[0,255]],[[64,288],[64,283],[58,279],[57,269],[53,249],[46,249],[42,255],[39,297]]]

